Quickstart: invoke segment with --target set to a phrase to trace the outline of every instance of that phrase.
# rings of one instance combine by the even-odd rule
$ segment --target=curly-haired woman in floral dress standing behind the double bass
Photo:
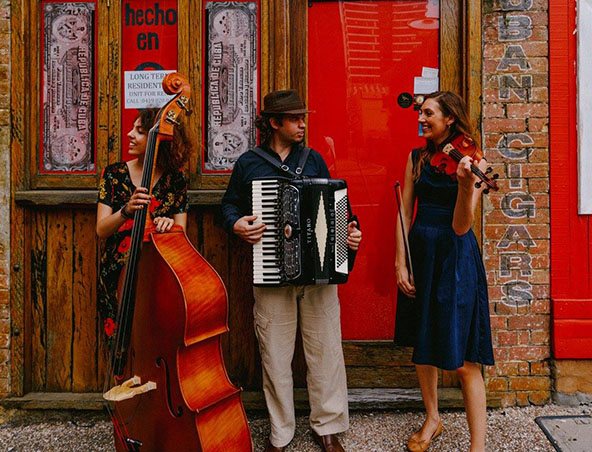
[[[191,143],[183,127],[175,127],[172,144],[161,145],[153,177],[152,195],[141,187],[142,167],[148,131],[156,109],[140,110],[129,138],[128,162],[107,166],[101,175],[97,204],[97,235],[106,238],[98,283],[98,309],[108,338],[115,332],[117,284],[130,245],[133,216],[148,206],[157,232],[187,223],[187,181],[182,168],[191,153]]]

